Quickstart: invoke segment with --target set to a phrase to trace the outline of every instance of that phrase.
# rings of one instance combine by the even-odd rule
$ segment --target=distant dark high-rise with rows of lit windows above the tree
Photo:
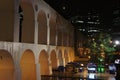
[[[91,12],[72,18],[71,23],[86,37],[94,37],[97,33],[103,31],[101,19],[99,13]]]

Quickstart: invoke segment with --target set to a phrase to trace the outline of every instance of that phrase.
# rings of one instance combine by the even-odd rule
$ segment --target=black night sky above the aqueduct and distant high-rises
[[[119,5],[119,0],[44,0],[65,19],[69,20],[76,15],[88,12],[98,12],[103,17],[103,22],[109,27],[112,25],[112,10]]]

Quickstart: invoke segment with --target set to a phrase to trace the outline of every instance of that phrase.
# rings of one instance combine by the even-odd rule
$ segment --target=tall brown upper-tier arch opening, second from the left
[[[30,1],[22,0],[20,6],[23,10],[23,22],[20,27],[21,42],[34,43],[35,15]]]

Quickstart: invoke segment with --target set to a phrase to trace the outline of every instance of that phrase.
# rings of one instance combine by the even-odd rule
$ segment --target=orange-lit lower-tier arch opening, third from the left
[[[45,50],[40,52],[39,56],[39,63],[40,63],[40,73],[41,75],[49,75],[49,61],[48,61],[48,54]]]

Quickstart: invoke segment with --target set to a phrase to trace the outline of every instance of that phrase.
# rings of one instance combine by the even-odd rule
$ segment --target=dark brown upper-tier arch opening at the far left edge
[[[0,1],[0,41],[13,41],[14,0]]]

